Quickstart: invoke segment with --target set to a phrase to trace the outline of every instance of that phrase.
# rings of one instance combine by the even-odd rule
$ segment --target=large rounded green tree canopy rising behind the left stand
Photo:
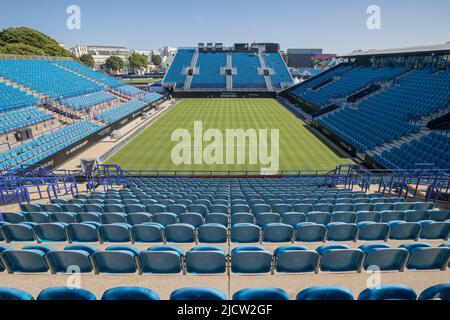
[[[72,57],[57,41],[34,29],[7,28],[0,32],[0,51],[8,54]]]

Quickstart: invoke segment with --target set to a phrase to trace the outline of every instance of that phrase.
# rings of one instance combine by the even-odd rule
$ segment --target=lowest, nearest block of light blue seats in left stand
[[[35,165],[100,128],[99,125],[91,121],[82,120],[31,142],[24,143],[0,154],[0,171],[20,169],[21,165],[25,167]]]

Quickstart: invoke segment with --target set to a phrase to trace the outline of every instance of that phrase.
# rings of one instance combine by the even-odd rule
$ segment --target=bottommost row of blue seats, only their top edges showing
[[[233,294],[233,300],[289,300],[289,294],[279,288],[259,287],[242,289]],[[26,291],[15,288],[0,288],[0,300],[33,300]],[[42,290],[37,300],[96,300],[96,296],[81,288],[51,287]],[[106,290],[102,300],[160,300],[160,296],[145,287],[116,287]],[[354,300],[353,293],[338,286],[316,286],[300,291],[296,300]],[[438,284],[425,289],[419,296],[406,285],[385,284],[365,289],[359,294],[359,300],[450,300],[450,284]],[[214,288],[189,287],[175,290],[170,300],[227,300],[227,295]]]

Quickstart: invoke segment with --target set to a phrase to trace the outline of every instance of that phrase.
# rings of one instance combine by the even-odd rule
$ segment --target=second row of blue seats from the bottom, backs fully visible
[[[22,250],[2,246],[1,269],[8,273],[136,273],[139,274],[274,274],[441,270],[450,262],[448,243],[432,247],[408,243],[399,248],[369,244],[359,248],[325,245],[316,250],[285,246],[274,254],[259,246],[237,247],[228,253],[219,247],[200,246],[184,253],[172,246],[139,250],[110,246],[105,251],[88,245],[69,245],[64,250],[49,246],[25,246]]]

